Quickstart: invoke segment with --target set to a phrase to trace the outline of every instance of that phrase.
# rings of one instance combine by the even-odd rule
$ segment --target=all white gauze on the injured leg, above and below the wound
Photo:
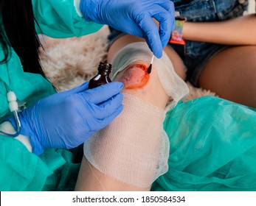
[[[117,74],[134,62],[150,62],[151,55],[147,44],[132,43],[118,52],[112,65],[114,69],[120,68]],[[169,60],[164,54],[161,60],[156,60],[154,64],[158,65],[154,68],[161,70],[160,82],[169,96],[173,94],[170,97],[175,103],[171,105],[175,105],[187,95],[188,89],[166,58]],[[176,93],[180,91],[183,93]],[[128,93],[124,93],[123,105],[120,116],[84,143],[84,155],[103,174],[128,185],[148,188],[168,168],[169,141],[163,129],[165,110]]]

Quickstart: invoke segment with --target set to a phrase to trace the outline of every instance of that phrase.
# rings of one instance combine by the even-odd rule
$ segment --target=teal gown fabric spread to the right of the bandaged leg
[[[169,169],[153,191],[256,191],[256,110],[204,96],[167,113]]]

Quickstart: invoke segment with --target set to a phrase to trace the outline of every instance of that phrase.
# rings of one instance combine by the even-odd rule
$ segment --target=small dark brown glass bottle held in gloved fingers
[[[97,88],[100,85],[105,85],[111,82],[109,74],[111,73],[112,65],[101,62],[98,67],[98,74],[89,81],[89,89]]]

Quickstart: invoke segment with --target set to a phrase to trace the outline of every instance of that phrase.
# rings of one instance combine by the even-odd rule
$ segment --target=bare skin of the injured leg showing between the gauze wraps
[[[123,36],[118,39],[118,42],[115,42],[113,46],[111,46],[108,55],[108,62],[111,61],[111,58],[114,57],[117,51],[122,49],[123,46],[128,43],[133,43],[134,41],[140,41],[137,38],[128,37],[128,35]],[[122,41],[123,40],[123,41]],[[174,51],[173,51],[174,52]],[[172,51],[170,50],[170,54]],[[179,65],[179,60],[176,61],[176,65]],[[148,65],[146,65],[148,68]],[[180,73],[182,75],[182,63],[180,63]],[[128,66],[125,71],[128,71],[131,66]],[[117,75],[116,79],[122,79],[125,76],[125,71],[120,72]],[[150,79],[148,83],[143,88],[137,89],[123,89],[122,92],[129,93],[134,96],[138,96],[145,102],[155,105],[156,107],[160,107],[165,109],[165,105],[168,102],[169,96],[165,93],[164,88],[162,88],[161,83],[159,82],[159,77],[156,69],[152,68]],[[157,98],[156,98],[157,96]],[[117,128],[118,129],[118,128]],[[103,137],[104,138],[104,137]],[[149,188],[138,188],[133,185],[128,185],[124,182],[120,182],[119,180],[115,180],[113,177],[109,177],[106,174],[103,174],[83,157],[83,161],[80,167],[80,172],[77,178],[77,185],[75,188],[76,191],[149,191]]]

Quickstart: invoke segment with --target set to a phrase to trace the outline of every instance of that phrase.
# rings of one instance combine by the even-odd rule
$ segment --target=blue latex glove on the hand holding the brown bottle
[[[88,89],[88,82],[73,90],[56,93],[18,113],[21,135],[30,138],[33,152],[46,148],[79,146],[122,111],[122,83],[111,82]],[[14,119],[10,122],[15,125]]]

